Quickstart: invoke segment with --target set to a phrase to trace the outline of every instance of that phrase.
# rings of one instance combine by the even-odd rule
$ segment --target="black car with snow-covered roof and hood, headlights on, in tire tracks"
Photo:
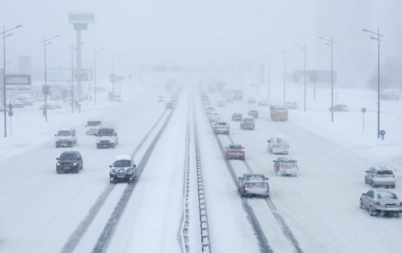
[[[109,180],[111,183],[124,181],[131,183],[137,176],[137,165],[131,155],[118,155],[113,163],[109,165]]]

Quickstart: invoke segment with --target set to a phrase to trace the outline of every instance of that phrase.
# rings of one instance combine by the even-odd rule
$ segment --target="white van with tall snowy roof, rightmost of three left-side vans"
[[[117,135],[117,124],[114,121],[103,121],[98,126],[96,132],[96,148],[111,147],[119,145],[119,136]]]

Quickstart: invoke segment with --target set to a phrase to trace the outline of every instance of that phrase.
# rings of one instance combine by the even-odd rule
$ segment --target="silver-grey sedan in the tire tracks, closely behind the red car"
[[[246,173],[238,178],[239,192],[242,197],[260,195],[269,197],[268,178],[264,174]]]

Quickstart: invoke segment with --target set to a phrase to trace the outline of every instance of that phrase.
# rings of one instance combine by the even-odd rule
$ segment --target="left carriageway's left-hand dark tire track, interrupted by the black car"
[[[144,138],[139,142],[137,147],[135,147],[132,155],[135,156],[139,149],[142,148],[144,145],[145,141],[148,139],[152,131],[156,128],[156,126],[159,124],[160,120],[162,120],[163,116],[166,114],[166,110],[162,112],[158,120],[156,120],[155,124],[152,126],[150,131],[146,133]],[[167,120],[167,119],[166,119]],[[166,123],[166,121],[165,121]],[[162,126],[163,127],[163,126]],[[105,204],[107,197],[109,194],[112,192],[113,188],[115,187],[115,184],[107,184],[105,189],[102,191],[102,193],[98,196],[96,199],[95,203],[92,205],[92,207],[89,209],[88,214],[85,216],[84,220],[78,224],[77,228],[74,230],[74,232],[70,235],[70,237],[67,239],[66,243],[64,243],[64,246],[62,247],[60,253],[72,253],[78,243],[81,241],[82,236],[85,234],[85,232],[88,230],[88,227],[98,214],[100,208]]]

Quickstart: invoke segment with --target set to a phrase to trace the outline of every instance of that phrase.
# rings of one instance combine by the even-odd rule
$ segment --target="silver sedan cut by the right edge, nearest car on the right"
[[[368,209],[370,216],[380,213],[402,214],[402,202],[387,189],[373,189],[361,194],[359,207]]]

